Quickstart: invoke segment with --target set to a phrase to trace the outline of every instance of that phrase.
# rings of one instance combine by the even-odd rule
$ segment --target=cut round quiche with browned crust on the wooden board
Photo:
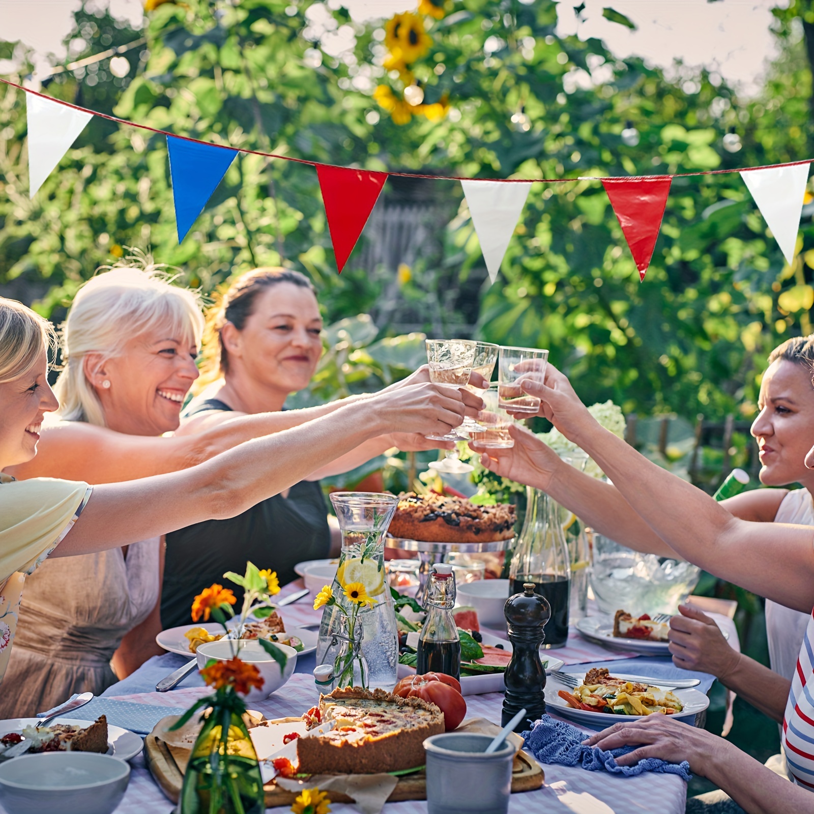
[[[424,741],[444,732],[444,714],[421,698],[382,689],[335,689],[303,716],[309,729],[334,722],[330,732],[297,738],[303,774],[376,774],[425,763]]]

